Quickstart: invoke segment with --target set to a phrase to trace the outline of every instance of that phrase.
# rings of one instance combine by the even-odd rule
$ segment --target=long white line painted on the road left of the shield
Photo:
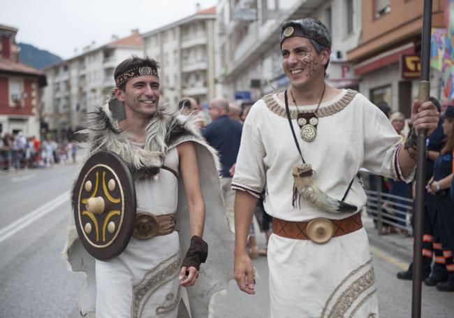
[[[0,229],[0,243],[10,238],[15,233],[19,232],[25,227],[29,226],[31,223],[35,222],[40,217],[47,215],[47,213],[55,210],[60,205],[68,201],[69,192],[70,191],[66,191],[64,192],[64,194],[60,194],[59,196],[57,196],[57,198],[54,198],[52,201],[49,201],[44,205],[41,205],[41,207],[37,208],[36,210],[27,213],[27,215],[24,215],[20,219],[15,220],[15,222],[8,224],[3,229]]]

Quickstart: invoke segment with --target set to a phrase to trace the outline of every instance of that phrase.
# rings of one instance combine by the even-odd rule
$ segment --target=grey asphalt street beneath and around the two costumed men
[[[68,272],[59,254],[64,247],[76,166],[0,175],[0,317],[78,317],[82,274]],[[411,282],[395,273],[407,266],[411,239],[376,236],[365,219],[374,257],[381,317],[409,317]],[[263,244],[263,236],[258,236]],[[212,301],[213,318],[269,317],[266,259],[254,261],[260,275],[256,296],[230,282],[227,293]],[[454,294],[423,287],[423,317],[452,317]],[[298,315],[295,315],[298,317]]]

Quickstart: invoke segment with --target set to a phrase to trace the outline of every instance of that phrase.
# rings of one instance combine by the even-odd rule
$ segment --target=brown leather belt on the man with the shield
[[[166,236],[175,230],[175,213],[154,215],[150,212],[137,212],[133,237],[148,240],[154,236]]]

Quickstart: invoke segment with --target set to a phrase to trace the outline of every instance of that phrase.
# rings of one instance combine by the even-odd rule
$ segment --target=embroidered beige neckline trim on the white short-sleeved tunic
[[[351,101],[353,101],[357,93],[358,92],[354,91],[353,89],[347,89],[347,92],[344,94],[344,96],[342,96],[341,99],[339,99],[339,101],[332,103],[330,106],[319,108],[316,113],[317,117],[325,117],[339,113],[341,110],[346,108],[346,106],[348,106]],[[268,109],[271,110],[274,114],[284,118],[287,117],[285,108],[279,106],[277,101],[273,98],[273,94],[269,94],[263,97],[263,101],[265,101]],[[314,113],[314,110],[301,110],[300,112],[298,112],[298,110],[290,110],[291,118],[293,120],[296,120],[298,118],[298,113]]]

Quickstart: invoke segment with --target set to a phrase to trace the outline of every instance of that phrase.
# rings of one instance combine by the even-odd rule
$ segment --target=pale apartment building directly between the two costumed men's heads
[[[216,96],[216,7],[142,35],[145,55],[160,65],[162,100],[191,96],[207,105]]]

